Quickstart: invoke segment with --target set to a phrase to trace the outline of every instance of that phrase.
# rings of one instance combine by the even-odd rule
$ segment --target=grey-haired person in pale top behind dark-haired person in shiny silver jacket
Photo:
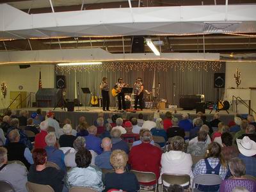
[[[64,162],[67,167],[76,167],[76,153],[80,148],[85,148],[85,139],[81,136],[78,136],[76,140],[74,140],[73,148],[74,150],[70,149],[68,153],[65,154]],[[92,154],[92,161],[91,165],[95,165],[95,157],[97,157],[97,153],[93,150],[89,150]]]

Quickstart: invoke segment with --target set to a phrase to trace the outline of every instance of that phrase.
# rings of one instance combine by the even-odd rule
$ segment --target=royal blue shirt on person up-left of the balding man
[[[88,136],[85,136],[85,142],[86,142],[86,148],[88,150],[94,150],[97,152],[97,154],[101,154],[103,149],[101,147],[101,140],[100,138],[97,138],[94,134],[88,134]]]

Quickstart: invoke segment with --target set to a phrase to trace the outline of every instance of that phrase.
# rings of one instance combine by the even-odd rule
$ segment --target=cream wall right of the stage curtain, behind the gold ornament
[[[234,74],[236,68],[241,72],[241,84],[239,88],[256,88],[256,63],[237,63],[227,62],[226,63],[226,77],[225,77],[225,88],[234,87],[236,88],[236,82],[234,80]],[[256,111],[256,90],[251,90],[251,106]],[[248,110],[239,106],[239,113],[248,113]]]

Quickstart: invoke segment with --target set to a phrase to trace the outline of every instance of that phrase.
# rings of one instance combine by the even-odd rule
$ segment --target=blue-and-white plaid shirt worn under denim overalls
[[[212,158],[212,157],[207,158],[207,160],[212,168],[215,168],[217,164],[220,162],[220,159]],[[219,173],[221,179],[225,179],[227,172],[228,172],[227,168],[221,165],[220,173]],[[193,175],[196,176],[196,175],[202,175],[205,173],[206,173],[205,161],[204,159],[201,159],[200,161],[198,161],[198,163],[196,163],[195,168],[193,170]]]

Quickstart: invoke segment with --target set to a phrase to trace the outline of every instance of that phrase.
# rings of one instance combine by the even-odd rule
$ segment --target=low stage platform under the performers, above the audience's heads
[[[31,114],[31,113],[35,112],[37,108],[22,108],[22,109],[29,111],[29,114]],[[49,109],[53,110],[53,108],[41,108],[41,109],[42,109],[43,115],[45,115],[47,113],[47,111],[49,111]],[[99,112],[104,113],[105,119],[109,118],[109,115],[111,113],[118,114],[120,116],[127,115],[127,118],[130,118],[131,116],[138,117],[139,113],[143,113],[144,120],[147,120],[147,116],[150,113],[154,113],[157,111],[156,109],[143,109],[143,111],[136,111],[136,113],[132,113],[132,112],[121,113],[121,112],[115,112],[116,108],[110,108],[110,110],[111,111],[102,111],[102,108],[97,108],[97,107],[84,108],[84,106],[82,106],[79,108],[75,107],[75,111],[67,111],[67,109],[65,111],[64,109],[56,108],[54,110],[54,113],[55,113],[56,119],[58,119],[60,122],[63,122],[63,120],[65,120],[65,118],[69,118],[72,122],[72,126],[76,127],[80,116],[85,116],[88,124],[92,125],[93,121],[97,119],[97,115]],[[177,113],[174,113],[174,111],[170,110],[170,109],[160,110],[159,113],[160,113],[161,118],[164,118],[164,114],[166,113],[166,111],[171,111],[173,116],[179,118],[179,120],[182,118],[182,114],[184,114],[184,113],[188,113],[189,117],[191,119],[196,117],[196,110],[183,110],[181,108],[178,108]],[[212,120],[212,117],[215,113],[215,110],[213,110],[211,114],[210,114],[210,111],[211,110],[209,110],[209,109],[205,109],[205,115],[207,116],[207,120],[209,120],[209,121]],[[225,124],[228,124],[228,122],[230,120],[234,119],[235,113],[233,111],[228,111],[228,113],[227,113],[227,111],[220,111],[221,121],[223,121]]]

